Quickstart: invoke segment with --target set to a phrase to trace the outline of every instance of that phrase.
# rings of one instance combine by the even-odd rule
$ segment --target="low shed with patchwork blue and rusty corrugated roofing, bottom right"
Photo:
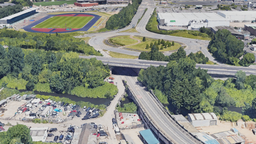
[[[206,144],[223,144],[223,143],[244,144],[245,143],[245,140],[241,138],[239,135],[237,135],[236,133],[234,133],[232,130],[219,132],[212,135],[208,135],[205,132],[199,132],[193,135],[195,135],[198,139],[200,139]]]

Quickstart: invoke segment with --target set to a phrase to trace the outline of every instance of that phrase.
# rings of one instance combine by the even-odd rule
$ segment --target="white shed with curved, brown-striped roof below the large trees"
[[[213,112],[188,114],[188,121],[194,127],[207,127],[217,125],[217,116]]]

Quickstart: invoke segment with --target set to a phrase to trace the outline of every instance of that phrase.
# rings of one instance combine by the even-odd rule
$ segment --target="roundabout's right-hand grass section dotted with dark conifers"
[[[127,46],[126,48],[131,48],[131,49],[136,49],[136,50],[142,50],[142,51],[146,51],[146,52],[149,52],[151,51],[151,48],[149,49],[146,49],[146,45],[150,45],[150,43],[153,43],[157,40],[156,39],[152,39],[152,38],[146,38],[146,42],[142,42],[142,39],[143,37],[140,37],[140,36],[133,36],[133,38],[136,38],[138,40],[141,41],[141,43],[139,44],[136,44],[136,45],[132,45],[132,46]],[[161,39],[162,40],[162,39]],[[167,41],[165,41],[167,42]],[[171,42],[171,41],[169,41]],[[167,48],[164,48],[164,49],[159,49],[160,52],[164,52],[164,51],[170,51],[170,50],[175,50],[175,49],[178,49],[181,45],[179,43],[174,43],[174,46],[171,46],[171,47],[167,47]],[[159,45],[159,48],[161,47],[161,45]]]

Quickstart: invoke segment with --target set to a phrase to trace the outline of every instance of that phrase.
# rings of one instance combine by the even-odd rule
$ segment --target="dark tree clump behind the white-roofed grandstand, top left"
[[[0,9],[0,19],[24,11],[22,5],[5,6]]]

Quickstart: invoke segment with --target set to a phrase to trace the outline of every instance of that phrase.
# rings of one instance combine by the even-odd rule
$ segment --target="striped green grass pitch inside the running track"
[[[65,24],[66,27],[82,28],[92,18],[92,16],[54,16],[33,28],[65,28]]]

